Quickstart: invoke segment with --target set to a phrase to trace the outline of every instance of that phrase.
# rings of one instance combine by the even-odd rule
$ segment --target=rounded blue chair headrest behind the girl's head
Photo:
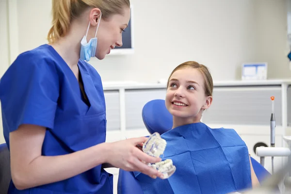
[[[166,108],[165,100],[155,99],[147,102],[142,111],[143,121],[150,134],[160,134],[172,129],[173,116]]]

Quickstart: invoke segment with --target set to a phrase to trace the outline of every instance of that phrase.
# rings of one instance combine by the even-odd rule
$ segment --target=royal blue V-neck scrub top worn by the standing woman
[[[88,103],[63,58],[49,45],[20,54],[0,80],[4,138],[21,124],[45,127],[43,156],[76,152],[105,142],[106,113],[96,69],[78,62]],[[44,175],[45,176],[45,175]],[[113,194],[113,176],[101,165],[63,181],[9,194]]]

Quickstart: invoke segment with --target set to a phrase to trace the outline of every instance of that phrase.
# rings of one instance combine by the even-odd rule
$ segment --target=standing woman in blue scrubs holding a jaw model
[[[136,147],[146,138],[105,143],[102,82],[87,63],[122,46],[129,7],[129,0],[52,0],[49,44],[21,53],[1,78],[8,194],[112,194],[105,163],[162,177],[145,164],[161,159]]]

